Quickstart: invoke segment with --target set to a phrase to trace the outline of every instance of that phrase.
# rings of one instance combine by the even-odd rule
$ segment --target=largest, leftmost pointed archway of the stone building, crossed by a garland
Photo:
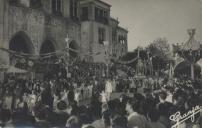
[[[9,50],[25,54],[34,54],[34,47],[30,38],[24,32],[16,33],[9,42]],[[21,69],[27,69],[28,65],[25,61],[25,58],[18,58],[23,61],[16,61],[17,58],[13,54],[10,54],[10,65],[15,66]]]

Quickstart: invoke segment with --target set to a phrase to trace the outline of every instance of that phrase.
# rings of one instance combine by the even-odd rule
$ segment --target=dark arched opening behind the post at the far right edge
[[[196,78],[200,77],[201,68],[196,63],[194,64],[194,75]],[[183,77],[183,78],[191,78],[191,64],[188,61],[183,61],[179,63],[174,69],[174,76],[175,77]]]

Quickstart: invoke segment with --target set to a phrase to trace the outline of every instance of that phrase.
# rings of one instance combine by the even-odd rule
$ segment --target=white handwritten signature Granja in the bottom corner
[[[191,110],[189,110],[187,113],[181,115],[181,113],[178,111],[175,114],[170,116],[170,120],[175,122],[175,124],[171,128],[178,128],[180,124],[185,122],[188,119],[191,119],[192,122],[195,122],[195,115],[197,113],[200,113],[202,108],[200,106],[192,107]]]

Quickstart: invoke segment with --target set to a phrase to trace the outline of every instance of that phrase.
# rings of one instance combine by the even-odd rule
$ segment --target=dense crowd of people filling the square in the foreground
[[[176,123],[171,115],[202,105],[197,82],[98,79],[95,74],[86,74],[86,79],[82,66],[89,68],[77,65],[71,79],[7,78],[0,84],[0,127],[170,128]],[[120,95],[112,98],[117,91]],[[180,127],[201,128],[201,113],[193,116]]]

